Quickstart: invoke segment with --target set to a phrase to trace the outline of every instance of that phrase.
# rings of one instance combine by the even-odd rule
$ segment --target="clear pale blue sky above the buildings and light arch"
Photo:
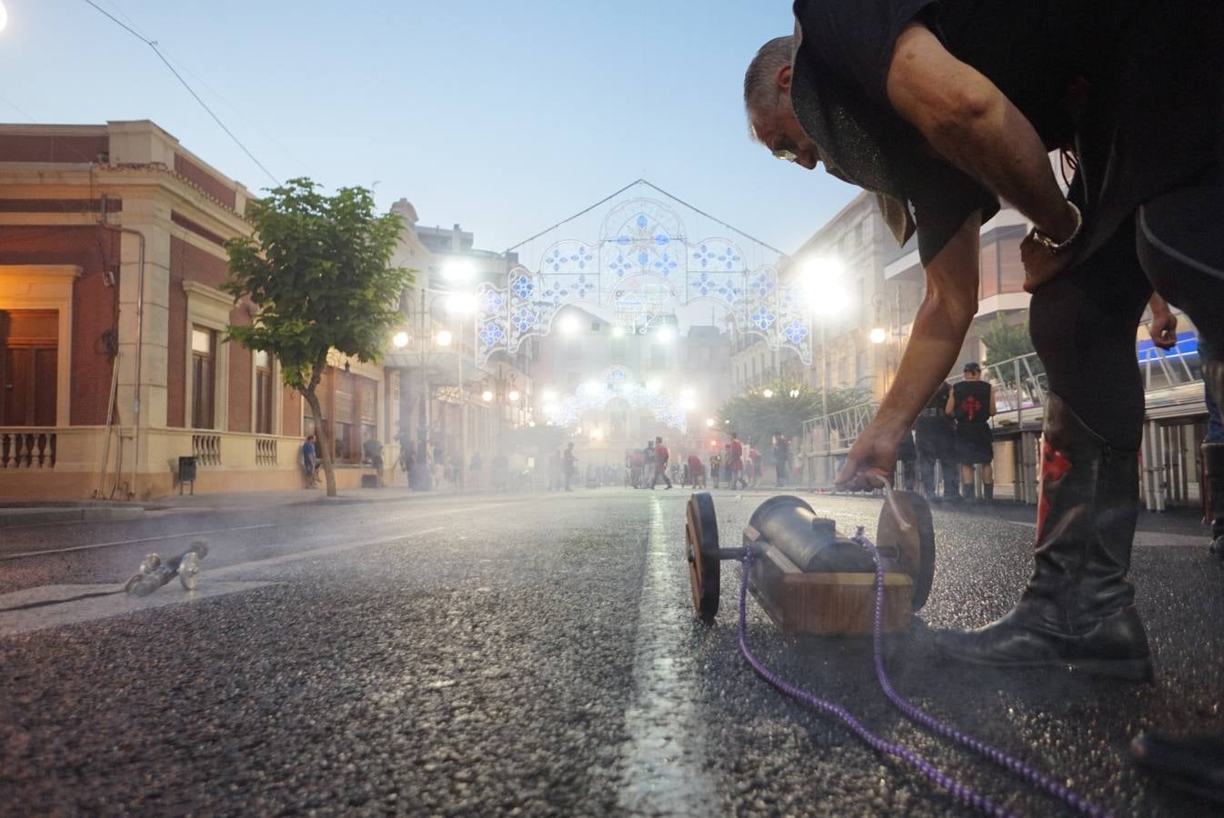
[[[84,0],[0,0],[0,120],[149,119],[269,179]],[[748,139],[743,70],[786,0],[95,0],[157,40],[279,180],[406,197],[504,249],[644,177],[786,252],[853,196]]]

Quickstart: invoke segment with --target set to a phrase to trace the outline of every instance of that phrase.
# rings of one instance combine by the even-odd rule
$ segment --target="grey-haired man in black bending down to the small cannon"
[[[794,34],[766,43],[744,78],[755,138],[874,192],[898,242],[917,232],[927,274],[897,377],[838,483],[878,487],[955,363],[977,311],[979,227],[1006,199],[1034,225],[1021,254],[1050,392],[1036,565],[1009,614],[936,644],[972,664],[1151,677],[1126,580],[1143,419],[1135,328],[1154,286],[1198,328],[1206,386],[1224,400],[1224,4],[797,0],[793,11]],[[1055,149],[1075,166],[1067,196]],[[1203,741],[1140,751],[1224,797],[1224,742]]]

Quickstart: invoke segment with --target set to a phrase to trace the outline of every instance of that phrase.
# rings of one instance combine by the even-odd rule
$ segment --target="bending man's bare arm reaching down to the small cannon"
[[[927,265],[927,296],[897,377],[875,419],[851,448],[838,485],[879,488],[871,474],[891,474],[897,443],[956,363],[978,309],[980,226],[982,214],[974,212]]]

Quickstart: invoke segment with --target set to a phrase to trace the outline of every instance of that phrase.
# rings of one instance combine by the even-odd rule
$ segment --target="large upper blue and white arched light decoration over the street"
[[[689,241],[676,207],[703,226],[723,225],[676,199],[643,197],[646,190],[666,196],[639,180],[610,199],[594,242],[561,237],[580,231],[577,223],[591,218],[579,214],[519,249],[520,259],[539,259],[534,270],[519,264],[504,287],[481,285],[477,364],[494,352],[515,352],[525,339],[546,335],[567,306],[632,312],[649,301],[639,296],[660,291],[682,306],[716,304],[741,331],[812,363],[812,309],[798,286],[780,285],[778,252],[743,235],[738,241],[717,236]]]

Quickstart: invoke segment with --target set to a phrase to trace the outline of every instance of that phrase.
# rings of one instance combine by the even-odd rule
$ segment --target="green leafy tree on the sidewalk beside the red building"
[[[327,495],[335,496],[333,423],[324,423],[319,379],[332,350],[377,363],[404,319],[400,293],[412,270],[390,265],[401,220],[379,215],[371,192],[341,187],[324,194],[308,179],[291,179],[252,201],[253,235],[226,243],[230,278],[222,285],[257,312],[226,340],[277,357],[286,386],[301,392],[317,421]]]

